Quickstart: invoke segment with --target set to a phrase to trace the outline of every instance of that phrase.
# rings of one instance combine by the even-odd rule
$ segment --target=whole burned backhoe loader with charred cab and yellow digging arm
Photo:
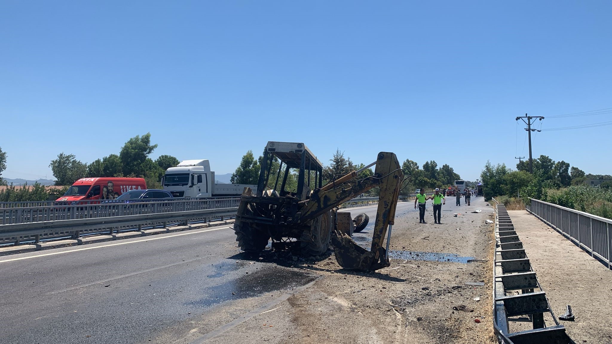
[[[360,171],[373,165],[376,165],[373,176],[357,179]],[[245,252],[260,252],[272,239],[273,247],[289,245],[301,249],[303,255],[316,256],[326,252],[331,240],[338,264],[346,269],[375,271],[389,266],[390,230],[403,174],[397,157],[390,152],[380,152],[376,162],[365,168],[322,185],[323,165],[303,143],[268,142],[259,174],[259,191],[254,194],[247,188],[241,196],[234,223],[238,245]],[[294,184],[294,174],[289,174],[292,171],[297,171],[297,185],[287,190]],[[274,187],[270,186],[272,181]],[[344,220],[340,215],[346,215],[338,214],[337,207],[373,187],[378,187],[380,193],[368,251],[351,239],[349,227],[353,223]],[[354,220],[355,225],[365,227],[363,221],[363,216]]]

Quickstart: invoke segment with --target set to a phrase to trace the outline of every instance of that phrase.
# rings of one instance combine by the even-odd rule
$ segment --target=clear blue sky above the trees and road
[[[277,140],[324,163],[336,148],[356,163],[436,160],[473,181],[487,160],[528,154],[516,116],[612,108],[610,13],[610,1],[0,1],[3,176],[50,178],[59,152],[92,162],[151,132],[153,158],[210,159],[217,173]],[[542,132],[534,156],[610,174],[593,157],[610,156],[611,131]]]

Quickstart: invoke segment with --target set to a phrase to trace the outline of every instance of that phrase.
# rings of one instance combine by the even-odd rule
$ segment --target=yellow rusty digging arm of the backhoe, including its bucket
[[[353,171],[341,177],[335,183],[348,181],[356,176],[357,173]],[[389,257],[383,248],[383,242],[387,228],[394,224],[395,208],[397,207],[402,177],[400,163],[395,154],[380,152],[376,160],[374,176],[364,178],[354,184],[343,184],[338,187],[334,187],[334,184],[330,187],[330,183],[321,189],[316,189],[309,200],[302,201],[306,206],[296,216],[296,221],[305,222],[316,219],[324,212],[351,200],[360,193],[373,187],[379,187],[378,212],[371,250],[368,252],[368,250],[357,245],[351,237],[337,230],[332,235],[332,245],[334,245],[338,264],[346,269],[374,271],[389,266]]]

